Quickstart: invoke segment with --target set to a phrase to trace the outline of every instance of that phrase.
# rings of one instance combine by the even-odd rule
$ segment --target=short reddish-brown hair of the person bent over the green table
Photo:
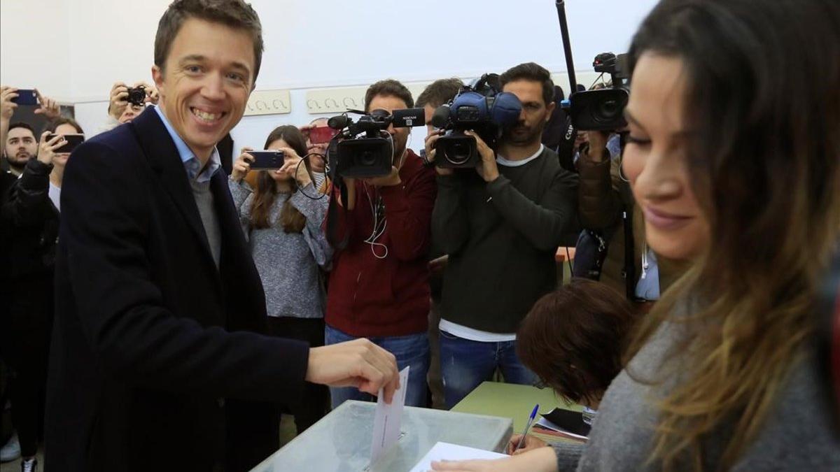
[[[593,403],[622,370],[635,316],[624,296],[601,282],[573,279],[543,296],[522,321],[522,364],[569,401]]]

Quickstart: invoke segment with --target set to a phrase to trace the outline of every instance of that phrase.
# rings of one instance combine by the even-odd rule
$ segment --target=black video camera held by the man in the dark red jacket
[[[347,113],[360,114],[353,121]],[[342,177],[379,177],[391,173],[394,165],[394,140],[386,128],[409,128],[423,126],[426,115],[423,108],[404,108],[389,114],[375,110],[366,114],[359,110],[348,110],[339,116],[329,118],[327,125],[338,129],[327,148],[329,176],[333,181]]]

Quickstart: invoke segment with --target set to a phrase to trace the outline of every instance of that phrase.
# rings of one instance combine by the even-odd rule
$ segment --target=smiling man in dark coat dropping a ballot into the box
[[[216,144],[260,69],[255,11],[178,0],[160,19],[157,107],[82,144],[61,191],[46,462],[244,470],[279,445],[270,404],[303,382],[390,401],[391,354],[262,336],[265,296]]]

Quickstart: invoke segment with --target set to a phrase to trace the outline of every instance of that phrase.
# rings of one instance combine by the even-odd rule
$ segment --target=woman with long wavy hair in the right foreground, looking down
[[[585,447],[436,470],[840,470],[814,346],[840,242],[840,3],[664,0],[629,51],[623,171],[690,269]]]

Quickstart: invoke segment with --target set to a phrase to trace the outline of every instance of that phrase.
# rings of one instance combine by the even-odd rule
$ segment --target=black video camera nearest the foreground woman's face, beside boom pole
[[[605,52],[596,55],[592,66],[596,72],[609,74],[612,88],[575,92],[569,97],[570,116],[579,130],[612,130],[627,126],[624,107],[630,98],[627,85],[627,55]]]

